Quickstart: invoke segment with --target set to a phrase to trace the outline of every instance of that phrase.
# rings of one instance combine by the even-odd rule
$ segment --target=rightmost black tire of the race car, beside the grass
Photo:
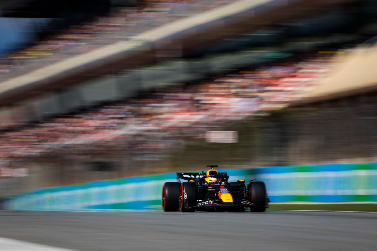
[[[266,185],[262,181],[250,182],[248,185],[250,202],[255,206],[250,207],[251,212],[264,212],[267,207]]]

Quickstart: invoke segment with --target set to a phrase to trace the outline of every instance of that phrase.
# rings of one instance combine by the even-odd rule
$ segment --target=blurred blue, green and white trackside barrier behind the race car
[[[271,202],[377,202],[377,163],[264,167],[226,171],[230,181],[264,181]],[[7,199],[9,210],[102,211],[161,208],[175,173],[43,188]]]

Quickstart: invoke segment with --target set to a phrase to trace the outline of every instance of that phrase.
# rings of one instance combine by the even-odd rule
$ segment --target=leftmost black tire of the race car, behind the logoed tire
[[[179,182],[166,182],[162,187],[161,205],[165,212],[178,211],[179,208]]]

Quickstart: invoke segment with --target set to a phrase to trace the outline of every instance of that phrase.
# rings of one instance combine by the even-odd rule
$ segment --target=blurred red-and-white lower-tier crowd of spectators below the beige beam
[[[205,131],[265,109],[284,107],[331,68],[331,53],[293,56],[196,84],[161,86],[147,98],[119,101],[0,135],[0,162],[41,156],[138,153],[162,158]],[[89,153],[88,153],[89,152]]]

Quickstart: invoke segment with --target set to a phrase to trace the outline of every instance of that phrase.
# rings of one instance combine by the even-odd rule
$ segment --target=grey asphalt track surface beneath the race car
[[[377,214],[0,210],[0,237],[59,248],[101,251],[377,250]]]

